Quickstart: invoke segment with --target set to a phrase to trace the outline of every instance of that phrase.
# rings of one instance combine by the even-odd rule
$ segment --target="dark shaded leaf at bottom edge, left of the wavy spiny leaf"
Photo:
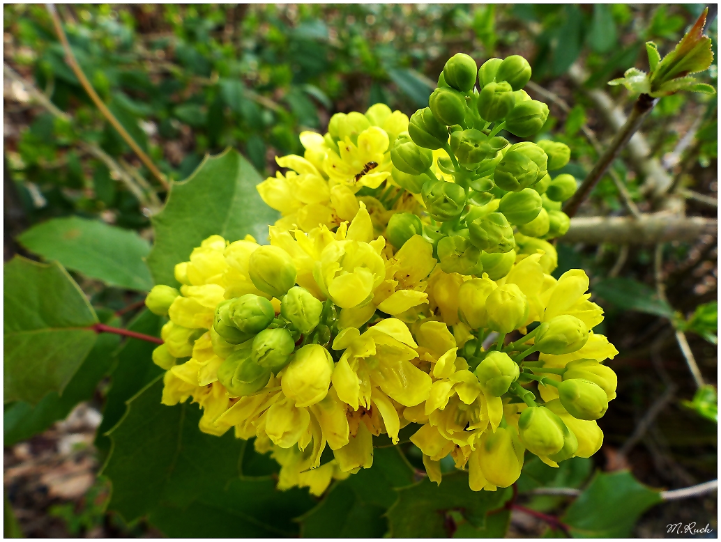
[[[381,538],[394,488],[413,482],[413,468],[397,447],[373,450],[373,467],[335,484],[322,502],[298,519],[304,538]]]

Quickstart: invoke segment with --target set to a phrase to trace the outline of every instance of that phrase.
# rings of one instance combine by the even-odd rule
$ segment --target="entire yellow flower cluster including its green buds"
[[[455,55],[410,120],[374,105],[301,134],[258,186],[282,214],[270,245],[211,236],[149,294],[163,403],[192,398],[200,430],[255,437],[280,489],[314,494],[410,424],[430,479],[451,456],[474,490],[513,484],[526,450],[595,453],[618,352],[585,272],[551,275],[575,179],[549,171],[570,151],[498,135],[544,125],[530,77],[520,56]]]

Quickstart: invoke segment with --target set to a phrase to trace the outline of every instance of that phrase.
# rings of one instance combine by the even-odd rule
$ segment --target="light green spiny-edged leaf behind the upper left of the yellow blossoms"
[[[185,181],[172,183],[165,207],[152,218],[155,244],[148,265],[156,284],[177,286],[174,266],[186,262],[211,235],[237,241],[251,234],[265,242],[278,212],[260,199],[255,186],[261,181],[253,166],[229,148],[206,156]]]

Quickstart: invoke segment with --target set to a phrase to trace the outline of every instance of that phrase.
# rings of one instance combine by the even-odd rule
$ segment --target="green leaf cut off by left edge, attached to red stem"
[[[4,277],[4,401],[63,394],[95,344],[92,307],[57,262],[14,257]]]

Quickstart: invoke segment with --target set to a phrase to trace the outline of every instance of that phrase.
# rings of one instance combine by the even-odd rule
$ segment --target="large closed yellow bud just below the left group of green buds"
[[[280,381],[286,397],[296,407],[309,407],[328,393],[333,373],[333,358],[321,345],[305,345],[291,358]]]

